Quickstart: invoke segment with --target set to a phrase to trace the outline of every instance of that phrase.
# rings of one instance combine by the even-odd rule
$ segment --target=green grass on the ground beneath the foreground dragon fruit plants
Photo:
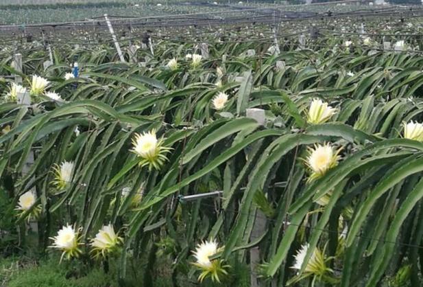
[[[43,259],[38,262],[24,257],[6,257],[0,260],[0,286],[8,287],[118,287],[117,265],[110,260],[110,269],[105,273],[101,264],[95,267],[81,264],[78,261],[62,262],[58,264],[58,257]],[[161,258],[154,268],[153,287],[173,287],[171,277],[172,262],[166,258]],[[143,282],[144,271],[140,266],[143,262],[134,264],[138,273],[136,278],[127,278],[125,286],[139,286]],[[230,279],[231,286],[250,286],[250,274],[247,266],[236,264],[234,266],[235,275]],[[197,286],[195,277],[189,279],[186,275],[177,276],[178,286]],[[204,282],[201,286],[216,287],[222,286],[212,282]]]

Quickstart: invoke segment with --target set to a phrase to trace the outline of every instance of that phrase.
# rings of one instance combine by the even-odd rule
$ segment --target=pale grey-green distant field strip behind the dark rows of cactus
[[[1,25],[32,25],[45,23],[58,23],[64,21],[82,21],[84,19],[97,19],[103,14],[130,17],[149,17],[171,14],[195,14],[210,13],[219,11],[234,11],[237,16],[249,16],[251,14],[242,12],[252,8],[278,9],[279,11],[322,13],[328,10],[332,12],[350,12],[354,10],[370,10],[370,6],[363,5],[286,5],[284,1],[278,3],[249,3],[248,1],[60,1],[57,0],[34,2],[23,1],[22,5],[16,5],[14,1],[5,1],[0,5]],[[225,14],[228,14],[226,12]],[[205,14],[202,17],[219,19],[219,14]]]

